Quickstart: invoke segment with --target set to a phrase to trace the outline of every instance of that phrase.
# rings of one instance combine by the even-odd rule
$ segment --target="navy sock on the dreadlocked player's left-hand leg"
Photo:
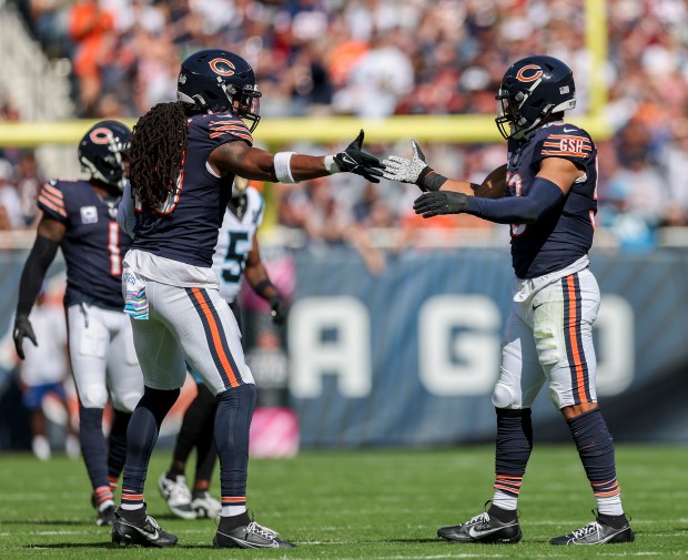
[[[143,397],[131,415],[127,430],[127,462],[122,481],[123,505],[134,506],[143,502],[143,485],[151,454],[158,441],[160,425],[176,401],[179,393],[179,389],[160,390],[150,387],[143,389]]]

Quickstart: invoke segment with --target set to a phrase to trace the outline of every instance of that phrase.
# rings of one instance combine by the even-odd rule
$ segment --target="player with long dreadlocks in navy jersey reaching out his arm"
[[[122,506],[112,539],[166,547],[143,501],[148,464],[160,425],[176,400],[188,363],[217,400],[222,513],[213,543],[225,548],[292,548],[246,512],[249,427],[255,407],[253,376],[244,360],[234,315],[212,269],[217,231],[234,176],[294,183],[353,172],[378,181],[382,164],[362,151],[363,131],[343,152],[312,156],[272,154],[253,146],[261,92],[251,65],[237,54],[209,49],[182,63],[178,101],[160,103],[134,126],[131,191],[133,233],[122,275],[125,310],[144,378],[143,398],[128,431]],[[250,125],[247,126],[246,123]]]

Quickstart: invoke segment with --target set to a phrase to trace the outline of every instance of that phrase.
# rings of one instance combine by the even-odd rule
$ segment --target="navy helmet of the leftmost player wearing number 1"
[[[118,121],[95,123],[79,142],[79,162],[91,179],[124,190],[131,130]]]

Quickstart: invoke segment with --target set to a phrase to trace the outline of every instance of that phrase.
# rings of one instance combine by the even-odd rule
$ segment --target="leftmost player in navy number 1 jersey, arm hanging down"
[[[79,395],[79,438],[98,525],[114,522],[112,491],[124,466],[127,426],[143,394],[131,325],[123,313],[122,258],[131,240],[117,223],[130,136],[131,131],[120,122],[97,123],[79,143],[79,161],[89,179],[53,180],[42,186],[38,195],[42,217],[21,275],[13,330],[17,354],[23,359],[23,339],[40,343],[29,312],[61,247],[67,263],[64,307]],[[114,419],[105,441],[102,418],[108,396]]]

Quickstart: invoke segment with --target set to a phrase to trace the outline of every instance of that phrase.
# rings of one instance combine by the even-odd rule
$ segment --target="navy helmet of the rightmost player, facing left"
[[[522,140],[550,114],[576,106],[574,73],[554,57],[526,57],[506,71],[496,99],[499,132]]]

